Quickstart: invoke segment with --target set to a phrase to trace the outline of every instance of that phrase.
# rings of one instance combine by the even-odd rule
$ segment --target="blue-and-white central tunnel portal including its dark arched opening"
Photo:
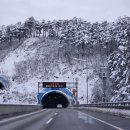
[[[44,108],[56,108],[58,104],[66,108],[75,103],[75,97],[68,88],[44,88],[37,99]]]

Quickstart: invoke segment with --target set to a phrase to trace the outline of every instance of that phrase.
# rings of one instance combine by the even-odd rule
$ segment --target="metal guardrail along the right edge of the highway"
[[[100,107],[100,108],[116,108],[116,109],[130,109],[130,102],[105,102],[92,104],[77,104],[74,107]]]

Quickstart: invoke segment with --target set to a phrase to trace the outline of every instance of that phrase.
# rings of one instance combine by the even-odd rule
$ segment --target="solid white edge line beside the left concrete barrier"
[[[38,113],[43,112],[43,111],[45,111],[45,109],[44,110],[40,110],[40,111],[36,111],[36,112],[31,112],[29,114],[24,114],[24,115],[20,115],[20,116],[16,116],[16,117],[11,117],[9,119],[4,119],[4,120],[0,121],[0,124],[8,122],[8,121],[11,121],[11,120],[16,120],[16,119],[24,118],[24,117],[31,116],[31,115],[34,115],[34,114],[38,114]]]

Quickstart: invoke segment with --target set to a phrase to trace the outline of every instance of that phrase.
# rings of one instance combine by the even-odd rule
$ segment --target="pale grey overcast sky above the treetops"
[[[0,25],[33,16],[37,20],[71,19],[115,21],[130,16],[130,0],[0,0]]]

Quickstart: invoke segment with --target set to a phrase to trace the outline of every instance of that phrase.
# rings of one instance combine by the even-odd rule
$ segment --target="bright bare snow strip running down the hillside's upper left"
[[[9,53],[0,64],[0,69],[8,76],[13,76],[15,74],[15,63],[25,61],[35,55],[36,49],[30,48],[30,46],[35,43],[36,40],[37,38],[30,38],[26,40],[18,49]]]

